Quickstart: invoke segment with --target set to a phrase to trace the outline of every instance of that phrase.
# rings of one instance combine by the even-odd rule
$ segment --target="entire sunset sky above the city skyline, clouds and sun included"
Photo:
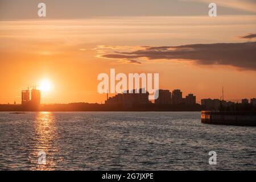
[[[20,103],[21,90],[42,82],[43,104],[101,103],[97,76],[110,68],[159,73],[160,88],[197,101],[220,98],[222,86],[225,100],[250,99],[255,38],[254,0],[0,0],[0,104]]]

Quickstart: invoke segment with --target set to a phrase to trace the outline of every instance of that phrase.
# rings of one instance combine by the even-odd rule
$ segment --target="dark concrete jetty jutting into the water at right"
[[[256,126],[256,111],[201,111],[201,122],[213,125]]]

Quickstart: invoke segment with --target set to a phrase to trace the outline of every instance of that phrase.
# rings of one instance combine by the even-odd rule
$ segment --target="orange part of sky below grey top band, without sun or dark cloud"
[[[240,43],[238,36],[255,33],[255,15],[115,16],[82,19],[0,21],[0,103],[20,103],[22,89],[48,78],[50,92],[42,103],[104,102],[97,76],[109,73],[159,73],[160,88],[181,89],[183,97],[226,100],[256,97],[256,71],[230,65],[199,65],[193,61],[147,60],[129,64],[98,55],[99,47],[179,46],[197,43]]]

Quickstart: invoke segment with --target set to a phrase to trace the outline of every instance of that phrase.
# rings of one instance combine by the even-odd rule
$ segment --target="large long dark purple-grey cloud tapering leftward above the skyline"
[[[127,49],[127,48],[126,48]],[[109,50],[98,57],[117,60],[179,60],[200,65],[231,65],[256,71],[256,42],[191,44],[184,46],[141,47],[135,51]],[[106,49],[105,49],[106,51]],[[106,51],[108,52],[108,51]]]

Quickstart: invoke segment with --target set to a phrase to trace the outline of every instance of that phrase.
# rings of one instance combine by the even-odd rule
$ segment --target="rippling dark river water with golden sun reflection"
[[[255,170],[256,127],[200,112],[0,112],[0,170],[188,169]]]

